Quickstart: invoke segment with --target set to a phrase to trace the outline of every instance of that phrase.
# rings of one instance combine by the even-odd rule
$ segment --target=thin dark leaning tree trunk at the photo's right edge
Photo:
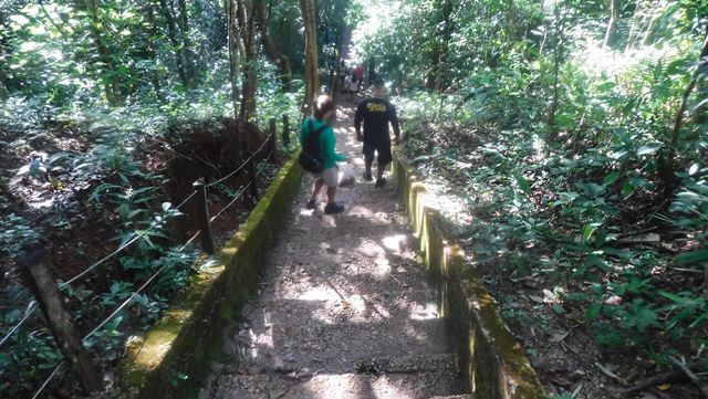
[[[684,125],[684,115],[686,114],[686,108],[688,108],[688,98],[690,97],[691,92],[696,87],[696,84],[700,77],[700,75],[706,70],[706,60],[704,57],[708,57],[708,28],[706,29],[706,36],[704,38],[704,45],[700,51],[700,55],[698,57],[699,64],[694,71],[694,75],[686,86],[684,94],[681,95],[681,102],[678,106],[678,112],[676,113],[676,118],[674,119],[674,128],[671,129],[671,141],[669,144],[669,148],[666,151],[666,156],[659,158],[659,164],[662,168],[659,170],[659,175],[664,182],[664,198],[669,198],[676,187],[678,186],[678,179],[676,178],[675,172],[675,158],[676,158],[676,147],[680,141],[680,130]]]

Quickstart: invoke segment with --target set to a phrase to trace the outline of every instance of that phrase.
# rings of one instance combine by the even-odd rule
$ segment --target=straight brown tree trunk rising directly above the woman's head
[[[302,113],[309,116],[312,114],[312,104],[320,92],[314,0],[300,0],[300,10],[305,25],[305,97],[302,104]]]

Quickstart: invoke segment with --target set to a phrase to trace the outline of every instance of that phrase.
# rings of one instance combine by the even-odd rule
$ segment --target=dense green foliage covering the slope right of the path
[[[421,0],[392,8],[386,29],[356,46],[400,93],[404,151],[444,181],[438,195],[466,204],[444,211],[475,262],[563,287],[549,307],[580,308],[601,346],[646,354],[684,339],[698,353],[708,335],[700,282],[676,271],[708,259],[705,90],[689,93],[673,132],[691,77],[706,84],[694,75],[698,10],[708,4],[657,6],[653,31],[631,36],[629,7],[617,22],[627,29],[603,46],[608,10],[597,2]],[[506,306],[504,316],[532,318]]]

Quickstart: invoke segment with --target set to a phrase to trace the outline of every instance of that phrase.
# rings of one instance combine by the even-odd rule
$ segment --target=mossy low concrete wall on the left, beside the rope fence
[[[202,260],[187,291],[147,333],[131,339],[118,370],[122,398],[194,398],[221,354],[223,327],[252,295],[262,261],[280,230],[302,167],[291,157],[241,229],[214,259]]]

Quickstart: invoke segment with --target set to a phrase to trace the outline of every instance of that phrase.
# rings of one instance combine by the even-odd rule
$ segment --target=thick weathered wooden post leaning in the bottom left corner
[[[34,291],[34,297],[44,313],[49,328],[56,339],[59,349],[76,372],[81,387],[87,393],[100,391],[102,389],[101,376],[84,347],[71,312],[64,306],[64,297],[56,286],[56,280],[54,280],[44,251],[31,252],[20,262],[23,266],[23,273]]]

